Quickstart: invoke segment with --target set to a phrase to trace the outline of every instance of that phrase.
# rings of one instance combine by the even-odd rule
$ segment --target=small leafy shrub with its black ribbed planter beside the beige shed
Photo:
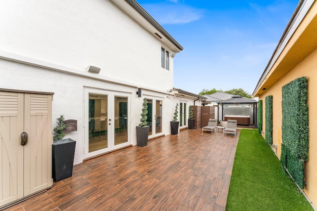
[[[76,141],[66,138],[64,129],[64,116],[56,119],[56,127],[53,129],[52,145],[52,173],[55,182],[72,176]]]

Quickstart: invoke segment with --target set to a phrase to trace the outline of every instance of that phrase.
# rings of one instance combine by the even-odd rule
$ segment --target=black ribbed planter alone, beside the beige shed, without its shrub
[[[52,173],[55,182],[72,176],[75,146],[76,141],[70,138],[53,141]]]

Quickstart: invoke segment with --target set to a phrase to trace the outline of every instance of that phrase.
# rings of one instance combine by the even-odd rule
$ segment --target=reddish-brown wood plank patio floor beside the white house
[[[224,211],[238,135],[182,130],[75,165],[7,211]]]

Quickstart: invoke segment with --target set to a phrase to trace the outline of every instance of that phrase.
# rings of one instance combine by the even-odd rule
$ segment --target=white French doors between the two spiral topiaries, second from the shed
[[[162,133],[162,110],[163,100],[159,98],[148,98],[148,126],[150,126],[149,137],[155,137]]]

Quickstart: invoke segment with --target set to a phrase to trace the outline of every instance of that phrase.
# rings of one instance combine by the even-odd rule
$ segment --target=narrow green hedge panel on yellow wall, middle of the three
[[[265,97],[265,140],[269,145],[272,145],[273,131],[273,96]]]

